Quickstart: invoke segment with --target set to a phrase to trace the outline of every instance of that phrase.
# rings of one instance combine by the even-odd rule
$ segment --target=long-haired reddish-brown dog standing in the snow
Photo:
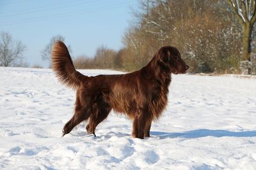
[[[65,124],[63,136],[89,119],[88,134],[113,109],[133,120],[132,137],[149,137],[152,120],[161,116],[168,99],[171,73],[186,73],[188,66],[173,46],[164,46],[139,71],[127,74],[84,76],[76,71],[67,46],[61,41],[52,48],[52,69],[58,80],[77,90],[75,113]]]

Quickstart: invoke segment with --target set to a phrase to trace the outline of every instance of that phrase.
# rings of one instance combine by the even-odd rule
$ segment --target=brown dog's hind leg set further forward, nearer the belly
[[[86,131],[88,132],[88,134],[94,134],[94,136],[96,136],[95,129],[97,125],[99,125],[100,122],[102,122],[105,118],[108,117],[110,111],[111,111],[110,108],[100,108],[100,109],[97,109],[90,116],[89,124],[86,125]]]

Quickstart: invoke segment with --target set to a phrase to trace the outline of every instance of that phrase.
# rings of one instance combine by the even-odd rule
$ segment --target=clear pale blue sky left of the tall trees
[[[72,57],[92,57],[100,45],[118,50],[132,20],[137,0],[0,0],[0,31],[22,41],[26,62],[40,64],[41,51],[52,36],[61,34]]]

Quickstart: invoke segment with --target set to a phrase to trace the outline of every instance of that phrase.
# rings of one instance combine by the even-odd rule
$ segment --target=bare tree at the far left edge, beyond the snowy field
[[[0,32],[0,66],[14,66],[25,50],[21,41],[13,41],[8,32]]]

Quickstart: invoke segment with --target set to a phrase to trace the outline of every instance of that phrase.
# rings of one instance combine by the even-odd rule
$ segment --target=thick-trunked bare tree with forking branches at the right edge
[[[227,0],[229,6],[242,25],[243,29],[243,60],[251,61],[252,31],[256,21],[256,0]],[[250,67],[248,67],[250,74]]]

